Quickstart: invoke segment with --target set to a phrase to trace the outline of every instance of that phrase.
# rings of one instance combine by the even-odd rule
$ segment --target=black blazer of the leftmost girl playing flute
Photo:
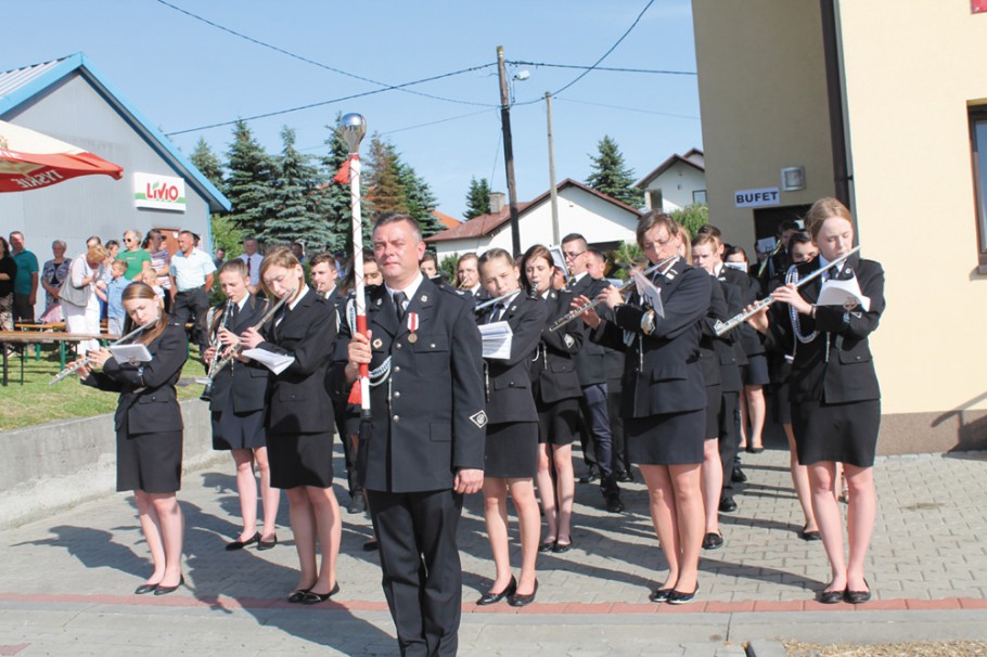
[[[185,330],[169,323],[148,345],[148,351],[151,362],[118,363],[111,358],[102,372],[92,372],[82,381],[87,386],[120,394],[114,425],[128,436],[182,429],[175,384],[188,356]]]

